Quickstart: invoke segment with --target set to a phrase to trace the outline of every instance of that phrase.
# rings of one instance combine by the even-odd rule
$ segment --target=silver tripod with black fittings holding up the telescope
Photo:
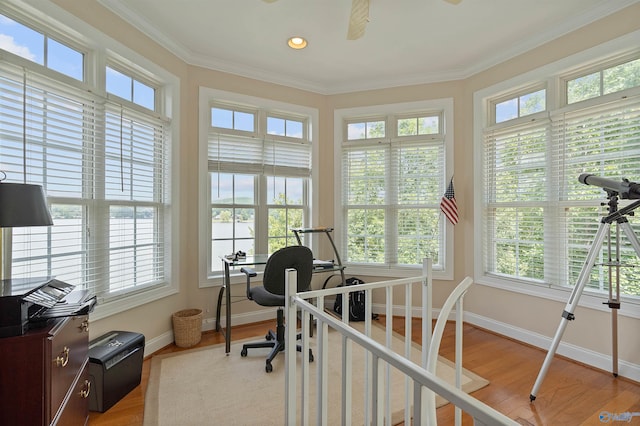
[[[549,370],[549,366],[551,361],[553,360],[553,356],[558,349],[558,345],[560,344],[560,340],[562,339],[562,335],[564,334],[565,329],[567,328],[567,324],[569,321],[575,318],[573,314],[576,307],[578,306],[578,301],[580,300],[580,296],[582,295],[582,291],[584,290],[585,285],[589,282],[589,278],[591,276],[591,270],[595,266],[596,258],[600,253],[600,249],[602,248],[602,244],[605,240],[605,237],[608,237],[608,262],[604,263],[605,266],[609,267],[609,300],[607,302],[603,302],[605,305],[608,305],[611,309],[611,328],[612,328],[612,361],[613,361],[613,375],[615,377],[618,376],[618,309],[620,309],[620,267],[623,266],[620,263],[620,229],[624,232],[629,242],[633,246],[636,256],[640,258],[640,242],[636,238],[636,235],[633,233],[633,229],[627,220],[627,215],[633,215],[633,210],[640,206],[640,201],[635,201],[632,204],[618,210],[618,194],[616,192],[607,191],[609,198],[609,214],[602,218],[600,221],[600,225],[598,227],[598,231],[596,232],[595,239],[589,252],[587,253],[587,258],[584,262],[582,270],[580,271],[580,275],[578,276],[578,281],[571,292],[571,296],[562,312],[562,319],[560,320],[560,325],[556,330],[556,334],[553,337],[553,341],[551,342],[551,347],[547,352],[547,356],[544,359],[544,363],[542,364],[542,368],[538,373],[538,378],[536,379],[535,384],[533,385],[533,389],[531,390],[531,395],[529,396],[531,402],[536,399],[536,395],[540,386],[542,385],[542,381],[547,375],[547,371]],[[612,259],[611,253],[611,224],[616,224],[616,250],[615,250],[615,260]],[[615,276],[614,276],[615,270]],[[612,281],[615,281],[615,293],[614,293],[614,285]]]

